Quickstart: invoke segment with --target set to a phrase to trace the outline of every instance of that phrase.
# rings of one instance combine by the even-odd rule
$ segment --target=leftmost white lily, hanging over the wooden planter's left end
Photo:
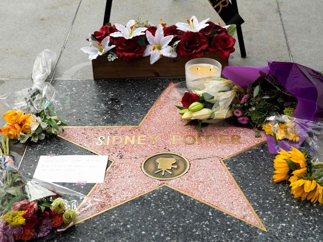
[[[89,47],[81,48],[81,51],[89,54],[88,59],[93,60],[98,56],[102,56],[107,53],[109,50],[115,47],[115,45],[109,46],[110,37],[105,37],[101,42],[95,41],[91,39],[91,35],[88,36],[88,41],[90,42]]]

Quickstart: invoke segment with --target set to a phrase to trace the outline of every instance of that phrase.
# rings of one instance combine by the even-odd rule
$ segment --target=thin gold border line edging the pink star
[[[139,123],[139,125],[125,125],[125,126],[118,126],[118,125],[111,125],[111,126],[66,126],[66,127],[64,127],[64,128],[88,128],[88,127],[140,127],[140,126],[142,125],[142,123],[146,120],[146,118],[148,117],[148,115],[150,114],[150,112],[153,110],[153,108],[155,107],[156,103],[157,103],[157,102],[159,101],[159,99],[161,98],[161,95],[163,94],[163,92],[166,90],[166,88],[167,88],[171,83],[173,83],[173,82],[172,82],[172,81],[169,81],[169,83],[168,83],[168,84],[166,85],[166,87],[163,89],[163,91],[161,92],[160,96],[156,99],[156,101],[154,102],[154,104],[152,105],[152,107],[150,108],[150,110],[148,111],[148,113],[145,115],[145,117],[143,118],[143,120]],[[97,152],[95,152],[95,151],[93,151],[93,150],[91,150],[91,149],[89,149],[89,148],[87,148],[87,147],[85,147],[85,146],[83,146],[83,145],[81,145],[81,144],[78,144],[78,143],[76,143],[76,142],[74,142],[74,141],[72,141],[72,140],[70,140],[70,139],[67,139],[67,138],[65,138],[65,137],[63,137],[63,136],[61,136],[61,135],[57,135],[57,136],[58,136],[58,137],[60,137],[60,138],[62,138],[62,139],[65,139],[65,140],[67,140],[67,141],[69,141],[69,142],[71,142],[71,143],[73,143],[73,144],[75,144],[75,145],[78,145],[78,146],[80,146],[80,147],[82,147],[82,148],[84,148],[84,149],[86,149],[86,150],[88,150],[88,151],[90,151],[90,152],[92,152],[92,153],[94,153],[94,154],[96,154],[96,155],[101,155],[101,154],[99,154],[99,153],[97,153]],[[118,206],[120,206],[120,205],[122,205],[122,204],[124,204],[124,203],[127,203],[127,202],[129,202],[129,201],[131,201],[131,200],[133,200],[133,199],[136,199],[136,198],[138,198],[138,197],[140,197],[140,196],[142,196],[142,195],[145,195],[145,194],[147,194],[147,193],[149,193],[149,192],[152,192],[152,191],[154,191],[154,190],[156,190],[156,189],[158,189],[158,188],[160,188],[160,187],[162,187],[162,186],[167,186],[167,187],[172,188],[172,189],[174,189],[174,190],[176,190],[176,191],[178,191],[178,192],[180,192],[180,193],[182,193],[182,194],[185,194],[185,195],[187,195],[187,196],[189,196],[189,197],[191,197],[191,198],[194,198],[194,199],[196,199],[196,200],[198,200],[198,201],[200,201],[200,202],[202,202],[202,203],[204,203],[204,204],[206,204],[206,205],[209,205],[210,207],[213,207],[213,208],[215,208],[215,209],[217,209],[217,210],[219,210],[219,211],[221,211],[221,212],[224,212],[224,213],[226,213],[226,214],[228,214],[228,215],[230,215],[230,216],[232,216],[232,217],[234,217],[234,218],[237,218],[237,219],[241,220],[242,222],[245,222],[245,223],[247,223],[247,224],[249,224],[249,225],[252,225],[252,226],[254,226],[254,227],[256,227],[256,228],[258,228],[258,229],[260,229],[260,230],[262,230],[262,231],[264,231],[264,232],[268,232],[268,231],[267,231],[267,229],[266,229],[266,227],[264,226],[264,224],[262,223],[262,221],[260,220],[260,218],[259,218],[259,217],[258,217],[258,215],[256,214],[256,212],[255,212],[255,211],[254,211],[254,209],[252,208],[252,206],[251,206],[251,204],[249,203],[248,199],[247,199],[247,198],[246,198],[246,196],[243,194],[243,192],[242,192],[241,188],[239,187],[238,183],[236,182],[236,180],[234,179],[234,177],[232,176],[232,174],[230,173],[229,169],[227,168],[227,166],[226,166],[226,165],[225,165],[225,163],[224,163],[224,161],[225,161],[225,160],[227,160],[227,159],[229,159],[229,158],[231,158],[231,157],[234,157],[234,156],[236,156],[236,155],[238,155],[238,154],[240,154],[240,153],[242,153],[242,152],[245,152],[245,151],[247,151],[247,150],[249,150],[249,149],[252,149],[252,148],[254,148],[254,147],[256,147],[256,146],[258,146],[258,145],[260,145],[260,144],[263,144],[264,142],[266,142],[266,141],[261,141],[261,142],[259,142],[259,143],[255,144],[255,145],[252,145],[252,146],[250,146],[250,147],[248,147],[248,148],[243,149],[243,150],[242,150],[242,151],[240,151],[240,152],[237,152],[237,153],[235,153],[235,154],[233,154],[233,155],[231,155],[231,156],[228,156],[228,157],[226,157],[226,158],[221,159],[221,164],[224,166],[224,168],[225,168],[226,172],[228,173],[228,175],[229,175],[229,176],[230,176],[230,178],[233,180],[233,182],[235,183],[236,187],[238,188],[238,190],[239,190],[239,191],[240,191],[240,193],[242,194],[243,199],[244,199],[244,200],[245,200],[245,202],[247,203],[248,207],[250,208],[251,212],[253,213],[253,215],[254,215],[254,216],[255,216],[255,218],[257,219],[257,221],[258,221],[258,223],[260,224],[260,226],[259,226],[258,224],[251,223],[251,222],[249,222],[249,221],[247,221],[247,220],[245,220],[245,219],[243,219],[243,218],[241,218],[241,217],[239,217],[239,216],[237,216],[237,215],[234,215],[234,214],[230,213],[229,211],[226,211],[226,210],[224,210],[224,209],[222,209],[222,208],[219,208],[219,207],[217,207],[217,206],[214,206],[214,205],[212,205],[212,204],[210,204],[210,203],[208,203],[208,202],[206,202],[206,201],[203,201],[203,200],[201,200],[201,199],[199,199],[199,198],[197,198],[197,197],[194,197],[194,196],[192,196],[192,195],[190,195],[190,194],[188,194],[188,193],[186,193],[186,192],[184,192],[184,191],[181,191],[181,190],[179,190],[179,189],[177,189],[177,188],[175,188],[175,187],[172,187],[172,186],[170,186],[170,185],[168,185],[168,184],[161,184],[161,185],[159,185],[159,186],[157,186],[157,187],[155,187],[155,188],[152,188],[152,189],[150,189],[150,190],[148,190],[148,191],[145,191],[145,192],[143,192],[143,193],[141,193],[141,194],[139,194],[139,195],[137,195],[137,196],[134,196],[134,197],[132,197],[132,198],[130,198],[130,199],[127,199],[127,200],[125,200],[125,201],[123,201],[123,202],[120,202],[120,203],[118,203],[118,204],[116,204],[116,205],[114,205],[114,206],[112,206],[112,207],[109,207],[109,208],[107,208],[107,209],[104,209],[104,210],[102,210],[102,211],[100,211],[100,212],[98,212],[98,213],[96,213],[96,214],[93,214],[93,215],[91,215],[91,216],[89,216],[89,217],[87,217],[87,218],[84,218],[84,219],[82,219],[82,220],[80,220],[80,221],[76,222],[76,223],[75,223],[75,225],[77,225],[77,224],[79,224],[79,223],[82,223],[82,222],[84,222],[85,220],[88,220],[88,219],[90,219],[90,218],[93,218],[93,217],[95,217],[95,216],[97,216],[97,215],[99,215],[99,214],[101,214],[101,213],[104,213],[104,212],[106,212],[106,211],[108,211],[108,210],[110,210],[110,209],[113,209],[113,208],[115,208],[115,207],[118,207]],[[107,172],[111,169],[111,167],[115,164],[115,162],[114,162],[112,159],[110,159],[110,158],[109,158],[109,160],[110,160],[110,161],[112,161],[112,164],[110,164],[110,166],[109,166],[109,167],[108,167],[108,169],[106,170],[106,173],[107,173]],[[21,162],[22,162],[22,160],[21,160]],[[93,188],[89,191],[89,193],[86,195],[86,197],[88,197],[88,196],[92,193],[92,191],[95,189],[95,187],[96,187],[98,184],[99,184],[99,183],[94,184]],[[82,204],[82,202],[81,202],[81,204]],[[78,207],[77,209],[79,209],[79,208],[81,207],[81,204],[79,205],[79,207]]]

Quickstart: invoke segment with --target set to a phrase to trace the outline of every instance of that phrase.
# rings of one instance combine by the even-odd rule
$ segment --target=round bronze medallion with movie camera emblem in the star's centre
[[[147,157],[141,169],[148,177],[171,180],[183,176],[189,169],[189,162],[176,153],[157,153]]]

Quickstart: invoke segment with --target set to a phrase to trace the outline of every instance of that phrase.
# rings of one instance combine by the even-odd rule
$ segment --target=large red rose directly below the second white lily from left
[[[138,39],[141,36],[136,36],[131,39],[124,37],[114,38],[113,44],[116,46],[115,52],[121,60],[129,61],[135,58],[143,57],[146,46],[138,44]]]

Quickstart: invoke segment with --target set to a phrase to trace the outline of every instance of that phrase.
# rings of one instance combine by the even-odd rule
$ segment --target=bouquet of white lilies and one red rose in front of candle
[[[213,77],[203,83],[203,90],[185,92],[181,106],[176,106],[186,125],[197,123],[198,131],[202,122],[214,122],[233,115],[230,105],[236,102],[242,89],[230,80]]]

